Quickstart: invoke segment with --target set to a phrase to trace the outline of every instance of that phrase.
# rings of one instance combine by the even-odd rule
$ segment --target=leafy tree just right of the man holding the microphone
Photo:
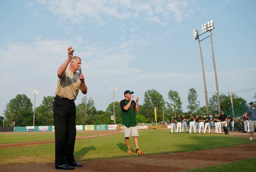
[[[77,105],[76,124],[88,125],[95,124],[97,110],[94,106],[94,100],[90,97],[83,97],[82,102]]]

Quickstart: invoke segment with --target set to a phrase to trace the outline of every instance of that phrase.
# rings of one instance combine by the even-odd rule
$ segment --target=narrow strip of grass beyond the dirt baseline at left
[[[93,135],[95,133],[79,133],[78,136],[88,136]],[[100,133],[96,133],[100,134]],[[40,132],[31,132],[31,133],[4,133],[0,134],[0,144],[8,144],[8,143],[19,143],[19,142],[32,142],[32,141],[40,141],[40,140],[52,140],[54,139],[54,133],[40,133]]]

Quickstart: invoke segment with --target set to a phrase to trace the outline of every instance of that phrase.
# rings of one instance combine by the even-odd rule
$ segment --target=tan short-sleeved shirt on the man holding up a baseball
[[[64,76],[61,78],[59,77],[57,80],[57,89],[55,95],[65,97],[70,100],[75,100],[81,84],[78,75],[78,72],[75,72],[74,74],[67,67]]]

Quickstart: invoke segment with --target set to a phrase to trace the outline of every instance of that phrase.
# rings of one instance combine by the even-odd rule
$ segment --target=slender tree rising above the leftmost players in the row
[[[182,115],[182,103],[181,103],[181,97],[179,96],[179,93],[174,90],[170,90],[168,93],[168,99],[171,101],[171,103],[168,105],[169,108],[173,108],[173,113],[175,115],[180,114]]]

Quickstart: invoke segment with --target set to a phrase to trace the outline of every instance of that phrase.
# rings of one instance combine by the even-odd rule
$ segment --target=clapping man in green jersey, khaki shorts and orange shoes
[[[133,94],[133,91],[126,90],[124,92],[125,99],[121,100],[120,102],[120,107],[122,109],[123,133],[125,134],[125,143],[128,148],[127,154],[131,154],[129,137],[133,137],[136,147],[135,154],[144,155],[144,153],[139,150],[139,134],[136,121],[136,112],[139,111],[139,97],[136,97],[136,100],[134,101],[131,94]]]

